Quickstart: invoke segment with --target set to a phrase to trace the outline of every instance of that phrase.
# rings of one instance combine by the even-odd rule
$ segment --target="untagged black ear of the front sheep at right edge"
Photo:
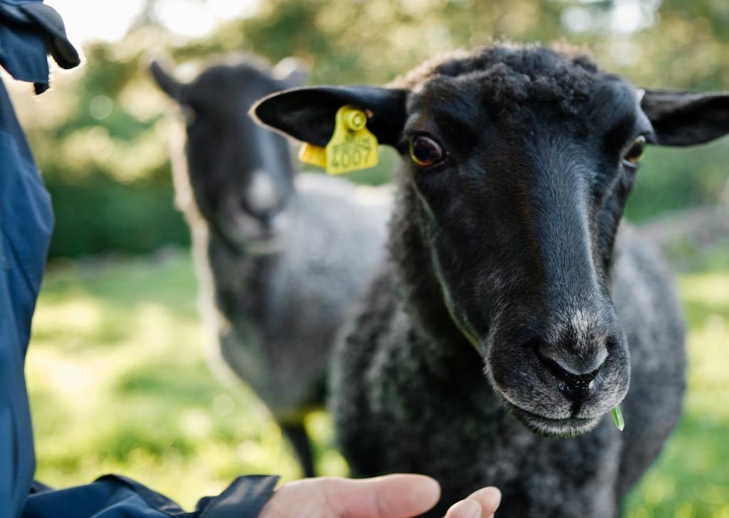
[[[693,146],[729,133],[729,94],[645,90],[641,107],[656,144]]]

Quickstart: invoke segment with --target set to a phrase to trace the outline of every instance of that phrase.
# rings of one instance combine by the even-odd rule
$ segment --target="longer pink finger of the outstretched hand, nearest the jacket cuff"
[[[332,510],[347,518],[409,518],[428,511],[440,498],[440,485],[424,475],[322,482]]]

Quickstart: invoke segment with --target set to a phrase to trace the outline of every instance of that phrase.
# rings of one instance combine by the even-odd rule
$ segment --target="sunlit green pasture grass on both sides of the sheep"
[[[729,271],[680,284],[685,415],[626,516],[729,518]],[[299,476],[265,407],[208,369],[196,306],[185,253],[53,265],[27,361],[39,479],[63,487],[117,472],[189,508],[238,474]],[[345,474],[327,416],[307,425],[320,470]]]

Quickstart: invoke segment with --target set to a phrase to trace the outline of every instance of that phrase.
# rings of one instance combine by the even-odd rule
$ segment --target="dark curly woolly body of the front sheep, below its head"
[[[404,228],[397,222],[394,227]],[[394,248],[412,243],[396,235]],[[364,299],[367,310],[346,329],[335,360],[332,411],[354,474],[434,476],[443,487],[434,517],[485,485],[504,493],[502,518],[617,516],[620,499],[679,417],[685,353],[671,275],[658,252],[625,225],[615,253],[612,297],[632,369],[631,390],[621,405],[623,433],[609,415],[594,431],[572,439],[529,431],[504,409],[480,357],[459,331],[436,336],[416,324],[418,309],[391,289],[402,286],[402,277],[389,267]],[[424,256],[407,255],[410,266],[400,268],[425,268]],[[429,311],[447,313],[434,300],[424,302]]]

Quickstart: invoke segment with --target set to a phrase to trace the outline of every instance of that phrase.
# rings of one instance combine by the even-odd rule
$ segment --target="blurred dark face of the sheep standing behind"
[[[165,86],[165,79],[171,80],[157,81]],[[171,95],[186,118],[187,169],[200,213],[235,246],[267,242],[292,195],[293,168],[286,139],[256,125],[248,111],[263,95],[292,86],[290,78],[238,63],[211,66],[190,83],[174,84]]]

